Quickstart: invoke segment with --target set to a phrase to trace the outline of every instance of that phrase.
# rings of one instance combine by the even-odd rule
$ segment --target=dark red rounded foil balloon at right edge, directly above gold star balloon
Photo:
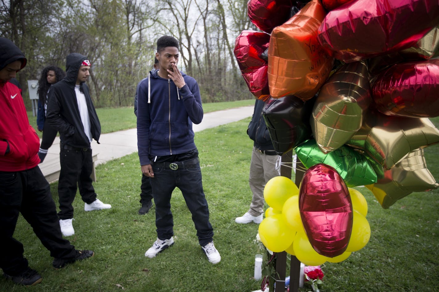
[[[389,116],[439,116],[439,60],[395,64],[372,87],[375,107]]]

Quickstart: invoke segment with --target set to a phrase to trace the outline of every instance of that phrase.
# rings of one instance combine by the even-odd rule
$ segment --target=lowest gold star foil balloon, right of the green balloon
[[[377,198],[381,207],[388,209],[397,200],[412,192],[437,189],[439,184],[427,169],[424,150],[410,152],[394,167],[384,172],[384,178],[373,185],[366,185]]]

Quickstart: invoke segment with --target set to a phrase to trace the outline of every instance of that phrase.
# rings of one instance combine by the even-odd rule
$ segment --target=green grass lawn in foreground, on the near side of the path
[[[174,246],[154,259],[144,256],[156,239],[155,214],[154,210],[144,216],[137,214],[141,174],[137,153],[133,153],[96,169],[98,198],[111,203],[111,210],[84,212],[79,194],[73,202],[76,234],[69,239],[79,249],[93,249],[93,258],[55,270],[47,249],[29,224],[19,218],[14,237],[23,243],[30,266],[43,276],[43,282],[32,291],[259,289],[261,281],[252,279],[254,256],[264,253],[255,242],[258,225],[234,222],[248,210],[251,201],[248,171],[252,141],[245,133],[249,121],[246,118],[195,135],[215,246],[222,257],[219,264],[210,264],[198,246],[191,214],[178,190],[171,201]],[[439,118],[432,121],[437,126]],[[437,145],[425,149],[428,168],[435,178],[439,177],[437,152]],[[58,205],[57,187],[58,183],[51,185]],[[369,190],[356,189],[367,199],[371,239],[347,260],[324,264],[320,291],[439,291],[439,190],[412,193],[384,210]],[[1,280],[0,291],[29,288]]]

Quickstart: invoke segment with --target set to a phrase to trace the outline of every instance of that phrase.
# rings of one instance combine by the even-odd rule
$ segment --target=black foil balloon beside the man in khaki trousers
[[[309,117],[315,98],[303,101],[296,96],[270,99],[262,111],[274,150],[282,155],[311,137]]]

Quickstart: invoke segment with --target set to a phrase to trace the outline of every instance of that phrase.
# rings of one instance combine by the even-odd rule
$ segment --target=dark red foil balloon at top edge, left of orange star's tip
[[[273,28],[291,17],[291,7],[295,2],[295,0],[249,0],[248,18],[260,30],[271,33]]]

